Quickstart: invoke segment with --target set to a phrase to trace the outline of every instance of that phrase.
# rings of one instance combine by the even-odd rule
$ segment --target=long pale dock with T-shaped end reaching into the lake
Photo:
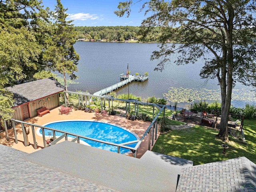
[[[140,82],[144,82],[145,80],[148,80],[148,76],[134,76],[134,75],[129,75],[128,77],[124,74],[120,74],[120,80],[122,80],[121,82],[114,84],[112,86],[109,86],[107,88],[104,88],[98,92],[95,92],[94,95],[97,96],[101,96],[101,95],[105,95],[109,92],[112,92],[132,81],[140,81]]]

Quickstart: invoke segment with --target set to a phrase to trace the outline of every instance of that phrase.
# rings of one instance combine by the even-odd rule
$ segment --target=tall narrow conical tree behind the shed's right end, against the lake
[[[48,39],[47,50],[44,52],[44,60],[49,63],[50,69],[57,70],[63,74],[64,86],[66,90],[66,74],[70,76],[70,79],[78,78],[74,72],[77,71],[76,65],[78,64],[79,55],[76,53],[73,45],[76,42],[76,31],[72,21],[67,21],[66,14],[60,0],[57,0],[55,6],[55,12],[52,13],[52,17],[55,19],[55,23],[52,26],[52,34]],[[66,93],[68,102],[68,93]]]

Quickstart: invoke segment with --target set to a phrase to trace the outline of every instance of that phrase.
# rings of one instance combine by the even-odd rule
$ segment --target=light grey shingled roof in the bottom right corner
[[[182,169],[176,192],[255,192],[256,164],[246,157]]]

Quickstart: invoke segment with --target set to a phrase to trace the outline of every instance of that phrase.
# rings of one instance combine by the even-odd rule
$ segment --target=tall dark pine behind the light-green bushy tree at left
[[[38,0],[3,0],[0,3],[1,30],[12,34],[13,37],[14,35],[17,36],[17,40],[13,44],[19,42],[18,36],[24,34],[25,30],[27,30],[26,34],[29,33],[30,35],[29,38],[26,38],[26,35],[22,38],[24,47],[20,43],[19,47],[16,46],[18,49],[11,49],[12,46],[9,45],[10,50],[16,54],[16,58],[20,50],[23,49],[23,52],[26,51],[27,57],[23,57],[21,60],[26,58],[31,63],[28,66],[23,61],[20,62],[19,65],[22,75],[20,73],[17,74],[19,78],[12,81],[12,84],[34,80],[34,73],[46,68],[42,62],[42,50],[44,50],[45,36],[48,35],[46,26],[48,24],[49,14],[48,8],[44,10],[41,3]],[[33,40],[31,41],[32,36]],[[11,42],[7,36],[3,38],[6,38],[7,42]],[[34,55],[34,52],[37,53]]]

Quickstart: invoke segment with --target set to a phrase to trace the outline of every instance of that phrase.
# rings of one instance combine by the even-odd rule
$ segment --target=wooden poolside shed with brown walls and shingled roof
[[[60,92],[65,88],[54,78],[45,78],[28,83],[6,87],[14,95],[13,118],[26,120],[37,116],[37,109],[56,108],[60,105]]]

